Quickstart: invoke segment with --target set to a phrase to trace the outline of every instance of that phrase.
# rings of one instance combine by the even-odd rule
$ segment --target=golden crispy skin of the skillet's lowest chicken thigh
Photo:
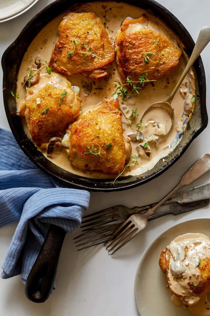
[[[121,172],[126,159],[118,100],[103,101],[71,126],[72,166],[108,174]],[[90,152],[99,153],[92,155]]]

